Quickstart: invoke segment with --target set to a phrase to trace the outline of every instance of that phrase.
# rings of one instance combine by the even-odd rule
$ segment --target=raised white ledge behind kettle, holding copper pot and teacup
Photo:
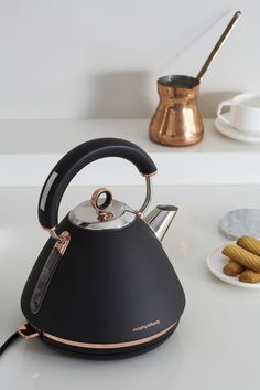
[[[165,147],[149,139],[149,120],[0,120],[0,186],[42,186],[62,156],[93,138],[118,137],[142,147],[160,175],[156,185],[260,183],[260,144],[247,144],[219,134],[204,119],[202,143]],[[107,171],[113,172],[107,175]],[[131,164],[117,158],[95,161],[74,185],[142,185]]]

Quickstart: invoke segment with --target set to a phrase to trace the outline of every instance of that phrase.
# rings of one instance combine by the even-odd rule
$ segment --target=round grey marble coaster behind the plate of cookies
[[[241,235],[260,238],[260,209],[229,211],[221,218],[219,230],[229,240],[237,240]]]

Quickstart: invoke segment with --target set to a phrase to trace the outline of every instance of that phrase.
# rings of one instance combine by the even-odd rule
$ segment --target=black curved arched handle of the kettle
[[[55,230],[63,193],[74,176],[88,164],[104,157],[121,157],[131,161],[140,173],[147,177],[147,186],[150,185],[148,178],[156,172],[156,167],[149,155],[128,140],[97,138],[80,144],[56,164],[43,186],[37,215],[44,229]]]

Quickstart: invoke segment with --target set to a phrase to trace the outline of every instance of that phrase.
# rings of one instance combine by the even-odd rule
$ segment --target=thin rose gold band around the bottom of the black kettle
[[[50,335],[45,331],[43,331],[42,335],[44,337],[51,338],[54,341],[66,344],[68,346],[73,346],[73,347],[89,348],[89,349],[115,349],[115,348],[133,347],[133,346],[138,346],[141,344],[145,344],[145,342],[155,340],[156,338],[163,336],[169,330],[171,330],[174,327],[174,325],[176,325],[176,323],[177,322],[175,322],[173,325],[169,326],[166,329],[159,331],[158,334],[155,334],[153,336],[144,337],[139,340],[126,341],[126,342],[115,342],[115,344],[90,344],[90,342],[72,341],[72,340],[67,340],[65,338]]]

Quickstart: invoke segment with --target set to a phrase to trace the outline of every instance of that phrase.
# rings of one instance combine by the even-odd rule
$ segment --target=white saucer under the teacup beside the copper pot
[[[228,118],[229,113],[223,114],[224,117]],[[221,133],[224,136],[241,140],[245,143],[257,144],[260,143],[260,133],[248,133],[248,131],[239,131],[231,125],[226,124],[224,120],[216,118],[215,119],[216,129]]]

